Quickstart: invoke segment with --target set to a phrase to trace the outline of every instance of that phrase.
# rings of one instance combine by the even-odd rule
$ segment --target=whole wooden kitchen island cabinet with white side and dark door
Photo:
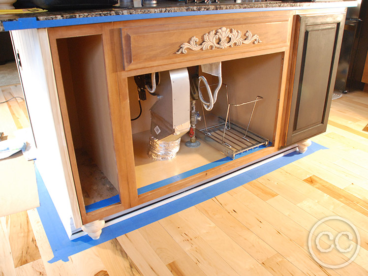
[[[12,31],[14,49],[25,60],[20,73],[36,165],[68,235],[99,221],[96,232],[106,217],[211,182],[323,132],[345,12],[239,12]],[[321,60],[314,59],[315,48]],[[206,118],[197,132],[225,119],[227,101],[262,98],[254,108],[232,106],[230,114],[240,133],[248,124],[267,142],[226,159],[207,138],[199,139],[199,148],[185,147],[185,134],[174,159],[153,161],[147,144],[157,97],[148,93],[140,110],[134,77],[160,72],[165,80],[182,68],[201,73],[202,64],[213,62],[221,62],[223,85],[211,112],[196,100],[199,116]],[[217,77],[206,76],[216,85]],[[188,110],[189,104],[183,102]]]

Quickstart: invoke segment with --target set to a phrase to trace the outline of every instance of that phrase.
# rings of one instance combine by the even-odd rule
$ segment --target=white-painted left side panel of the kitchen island
[[[35,164],[70,237],[82,225],[62,127],[51,52],[45,29],[11,31],[19,52],[22,86],[37,146]],[[46,41],[45,41],[46,40]],[[74,220],[71,225],[70,218]]]

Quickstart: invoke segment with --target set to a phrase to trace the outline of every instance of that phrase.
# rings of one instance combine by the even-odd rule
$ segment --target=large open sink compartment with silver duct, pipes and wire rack
[[[156,72],[154,79],[153,74],[128,78],[138,196],[274,146],[283,53],[210,66],[221,71],[221,80],[204,73],[206,65]],[[203,108],[202,102],[211,100],[198,76],[206,78],[213,98],[222,82],[210,111]],[[149,90],[156,83],[156,91],[146,87],[142,95],[142,78]],[[189,143],[193,116],[198,147]],[[152,146],[153,141],[161,144]]]

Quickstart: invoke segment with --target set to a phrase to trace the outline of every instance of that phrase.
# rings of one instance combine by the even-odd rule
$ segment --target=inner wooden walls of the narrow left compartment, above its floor
[[[119,190],[102,37],[59,39],[58,49],[74,147]]]

